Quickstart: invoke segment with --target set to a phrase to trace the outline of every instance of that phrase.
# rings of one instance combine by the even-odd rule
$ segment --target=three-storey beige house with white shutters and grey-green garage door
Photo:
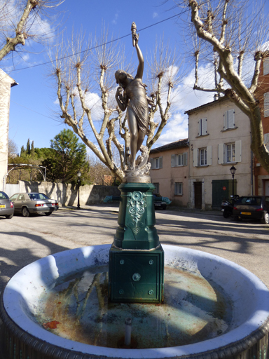
[[[227,97],[186,111],[190,146],[188,207],[219,209],[234,193],[252,194],[249,118]]]

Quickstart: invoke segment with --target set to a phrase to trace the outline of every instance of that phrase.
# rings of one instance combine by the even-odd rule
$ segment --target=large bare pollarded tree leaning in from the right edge
[[[269,172],[258,83],[261,62],[269,55],[265,1],[175,0],[174,4],[183,8],[183,12],[190,9],[188,34],[193,36],[195,57],[193,88],[226,95],[247,115],[251,123],[251,149]],[[205,68],[208,62],[214,79],[209,87],[199,79],[200,68]]]

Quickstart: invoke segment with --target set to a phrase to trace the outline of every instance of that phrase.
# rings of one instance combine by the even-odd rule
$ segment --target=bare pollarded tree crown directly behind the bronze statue
[[[130,154],[130,133],[126,114],[115,100],[115,72],[117,69],[133,72],[132,65],[126,63],[124,49],[109,38],[105,29],[99,39],[95,37],[92,41],[86,40],[81,32],[55,46],[50,59],[64,123],[122,180]],[[172,89],[181,78],[177,57],[163,41],[156,46],[151,60],[149,78],[144,80],[149,84],[150,133],[146,142],[149,149],[170,117]],[[158,121],[154,121],[157,113]]]

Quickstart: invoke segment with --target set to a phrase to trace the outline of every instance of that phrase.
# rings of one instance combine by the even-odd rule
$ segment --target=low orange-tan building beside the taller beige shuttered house
[[[151,181],[156,193],[168,197],[173,205],[188,204],[188,140],[179,140],[150,152]]]

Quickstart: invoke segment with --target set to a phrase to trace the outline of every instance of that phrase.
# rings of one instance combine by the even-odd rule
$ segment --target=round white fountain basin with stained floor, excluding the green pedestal
[[[109,250],[60,252],[11,278],[0,304],[3,358],[265,358],[269,292],[254,274],[163,245],[165,304],[109,303]]]

